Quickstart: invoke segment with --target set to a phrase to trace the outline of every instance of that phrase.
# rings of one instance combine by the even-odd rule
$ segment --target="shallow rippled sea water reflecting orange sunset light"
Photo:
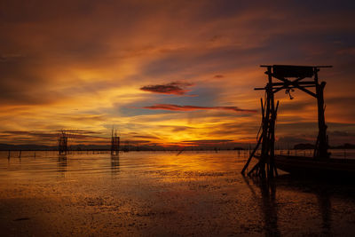
[[[244,178],[245,155],[1,152],[0,235],[355,234],[353,180]]]

